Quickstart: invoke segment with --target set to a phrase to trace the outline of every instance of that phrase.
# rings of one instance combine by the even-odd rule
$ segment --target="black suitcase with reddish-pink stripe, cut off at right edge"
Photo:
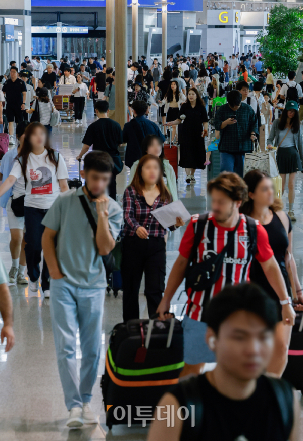
[[[282,375],[303,393],[303,313],[296,314],[288,349],[288,363]]]

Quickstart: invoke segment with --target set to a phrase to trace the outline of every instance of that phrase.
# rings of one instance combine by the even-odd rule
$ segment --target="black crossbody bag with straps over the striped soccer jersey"
[[[241,216],[239,216],[239,220],[235,229],[233,230],[233,234],[229,237],[227,244],[219,254],[213,254],[207,260],[197,263],[197,251],[198,246],[203,237],[203,231],[208,219],[208,213],[201,214],[198,222],[197,229],[194,237],[194,243],[191,250],[191,254],[188,260],[187,268],[185,271],[185,290],[188,288],[193,291],[204,291],[205,289],[210,288],[214,283],[217,282],[221,275],[223,260],[226,252],[228,251],[231,244],[234,242],[234,235],[237,231],[240,222]]]

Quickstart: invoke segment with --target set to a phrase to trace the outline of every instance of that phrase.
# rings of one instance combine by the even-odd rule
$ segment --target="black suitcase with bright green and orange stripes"
[[[178,383],[183,366],[179,320],[136,319],[116,325],[101,379],[107,426],[142,424],[144,419],[150,423],[155,406]],[[145,407],[145,417],[140,418],[138,408],[143,406],[149,409]]]

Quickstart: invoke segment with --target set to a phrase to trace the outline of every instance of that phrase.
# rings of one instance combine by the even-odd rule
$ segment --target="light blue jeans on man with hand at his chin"
[[[105,288],[83,289],[65,278],[51,280],[51,318],[59,375],[68,410],[89,403],[101,352]],[[82,352],[77,374],[76,334]]]

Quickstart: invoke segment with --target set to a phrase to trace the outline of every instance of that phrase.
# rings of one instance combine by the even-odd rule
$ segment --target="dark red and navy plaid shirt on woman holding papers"
[[[144,227],[149,236],[164,237],[166,230],[159,224],[156,217],[151,213],[156,208],[167,205],[170,201],[162,202],[160,195],[157,196],[152,206],[148,205],[145,197],[138,194],[134,187],[126,187],[123,195],[123,212],[124,212],[124,235],[134,236],[137,228]],[[170,227],[175,230],[175,227]]]

